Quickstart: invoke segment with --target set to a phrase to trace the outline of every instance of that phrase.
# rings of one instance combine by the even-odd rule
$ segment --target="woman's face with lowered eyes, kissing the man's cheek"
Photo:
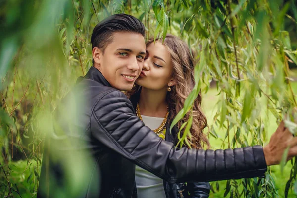
[[[146,48],[143,70],[136,84],[151,90],[167,90],[173,82],[173,65],[170,53],[162,41],[151,43]]]

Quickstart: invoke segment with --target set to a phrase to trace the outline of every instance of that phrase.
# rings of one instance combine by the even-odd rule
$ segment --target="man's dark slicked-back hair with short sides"
[[[145,26],[139,19],[128,14],[114,14],[98,23],[93,29],[92,49],[98,47],[104,53],[106,46],[112,42],[115,32],[133,32],[143,36],[146,34]]]

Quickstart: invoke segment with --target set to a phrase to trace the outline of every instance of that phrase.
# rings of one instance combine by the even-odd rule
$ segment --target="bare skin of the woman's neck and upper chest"
[[[164,90],[142,88],[138,102],[141,115],[164,117],[167,112],[166,95]]]

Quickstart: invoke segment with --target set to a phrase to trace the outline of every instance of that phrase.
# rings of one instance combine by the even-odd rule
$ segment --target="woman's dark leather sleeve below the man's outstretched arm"
[[[210,193],[209,182],[188,182],[187,190],[190,198],[208,198]]]

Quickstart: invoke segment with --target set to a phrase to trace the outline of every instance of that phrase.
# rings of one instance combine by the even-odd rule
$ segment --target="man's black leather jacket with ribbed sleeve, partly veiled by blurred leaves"
[[[61,192],[69,192],[64,197],[71,198],[136,198],[135,164],[169,183],[252,178],[264,176],[267,169],[261,146],[215,151],[175,149],[173,143],[162,140],[140,121],[131,101],[94,67],[62,103],[70,103],[69,98],[83,108],[79,119],[72,113],[69,119],[54,123],[45,145],[39,198],[55,198]],[[67,114],[67,110],[57,107],[56,114]],[[80,186],[75,180],[67,180],[76,173],[64,168],[70,163],[65,160],[68,155],[78,158],[71,163],[85,176]],[[87,156],[92,160],[79,159]]]

